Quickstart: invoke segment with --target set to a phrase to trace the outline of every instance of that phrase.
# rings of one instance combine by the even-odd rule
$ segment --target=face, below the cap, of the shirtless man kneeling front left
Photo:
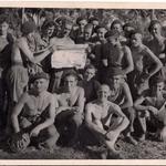
[[[48,86],[49,86],[49,81],[45,79],[38,79],[33,83],[33,87],[38,93],[48,90]]]

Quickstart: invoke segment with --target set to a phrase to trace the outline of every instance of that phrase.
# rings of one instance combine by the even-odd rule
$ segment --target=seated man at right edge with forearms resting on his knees
[[[137,111],[138,120],[143,134],[139,141],[144,141],[146,136],[146,121],[149,121],[151,128],[157,131],[157,137],[165,139],[166,134],[166,95],[164,92],[164,79],[156,76],[152,89],[146,90],[134,102],[134,107]],[[153,131],[154,132],[154,131]]]

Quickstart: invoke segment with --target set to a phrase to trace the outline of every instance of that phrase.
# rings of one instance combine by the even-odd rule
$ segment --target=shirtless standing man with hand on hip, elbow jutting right
[[[134,61],[134,71],[128,75],[128,84],[132,94],[139,93],[148,89],[148,80],[156,74],[163,66],[159,59],[142,43],[142,34],[133,32],[131,35],[131,51]],[[137,83],[143,80],[142,86]],[[137,90],[137,87],[142,90]],[[133,95],[135,100],[136,96]]]

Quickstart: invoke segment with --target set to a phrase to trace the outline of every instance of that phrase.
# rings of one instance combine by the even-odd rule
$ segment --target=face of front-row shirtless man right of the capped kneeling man
[[[69,75],[64,79],[64,86],[68,91],[71,91],[77,84],[77,80],[73,75]]]

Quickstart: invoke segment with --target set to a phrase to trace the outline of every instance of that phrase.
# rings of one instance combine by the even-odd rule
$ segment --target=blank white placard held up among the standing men
[[[83,69],[86,63],[85,49],[87,44],[56,45],[52,54],[51,65],[54,69],[73,68]]]

